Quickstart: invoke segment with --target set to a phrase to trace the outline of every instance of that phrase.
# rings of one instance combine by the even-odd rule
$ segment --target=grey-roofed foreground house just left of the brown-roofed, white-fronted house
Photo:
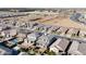
[[[57,40],[53,35],[42,35],[36,41],[36,47],[39,48],[49,48]]]

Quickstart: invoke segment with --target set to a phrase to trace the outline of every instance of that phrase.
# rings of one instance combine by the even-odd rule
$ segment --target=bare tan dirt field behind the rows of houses
[[[40,20],[39,22],[47,25],[74,27],[74,28],[81,28],[81,29],[86,30],[85,25],[75,23],[71,21],[69,17],[56,17],[56,18],[47,20],[47,21]]]

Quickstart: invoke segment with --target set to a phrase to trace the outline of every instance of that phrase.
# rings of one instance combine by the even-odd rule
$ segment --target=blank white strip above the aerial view
[[[85,0],[1,0],[0,8],[85,8]]]

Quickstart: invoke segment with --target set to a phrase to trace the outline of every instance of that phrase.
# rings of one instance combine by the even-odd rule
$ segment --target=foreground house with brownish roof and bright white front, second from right
[[[54,51],[57,54],[59,51],[65,52],[70,41],[67,39],[58,38],[51,46],[50,50]]]

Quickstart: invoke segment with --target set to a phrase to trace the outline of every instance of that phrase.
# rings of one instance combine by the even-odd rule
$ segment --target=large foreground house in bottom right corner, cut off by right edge
[[[86,43],[73,41],[67,52],[72,55],[86,55]]]

